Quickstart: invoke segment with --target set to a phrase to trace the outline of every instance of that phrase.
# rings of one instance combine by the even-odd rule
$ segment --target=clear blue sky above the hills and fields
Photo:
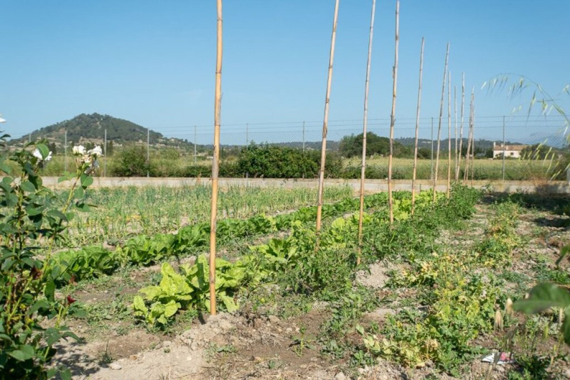
[[[363,113],[370,5],[340,2],[330,119],[352,120],[337,124],[356,130]],[[370,119],[390,114],[394,6],[393,0],[378,0]],[[242,131],[244,126],[235,125],[242,123],[252,124],[250,133],[258,140],[279,140],[279,131],[283,140],[294,139],[283,129],[292,126],[300,134],[298,123],[263,123],[307,120],[318,135],[333,7],[334,0],[225,0],[222,142]],[[403,0],[397,120],[403,125],[415,116],[422,36],[422,116],[438,115],[447,42],[452,86],[460,86],[465,71],[467,87],[475,87],[478,116],[508,115],[528,103],[531,93],[508,99],[506,93],[480,90],[502,72],[524,74],[559,94],[570,82],[569,14],[570,2],[560,0]],[[199,140],[209,142],[214,0],[0,0],[0,17],[0,113],[10,134],[99,112],[188,139],[197,124]],[[560,96],[568,103],[568,96]]]

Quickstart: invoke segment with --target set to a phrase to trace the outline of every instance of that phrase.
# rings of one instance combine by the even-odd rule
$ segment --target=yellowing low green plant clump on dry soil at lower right
[[[469,276],[470,257],[435,255],[414,263],[396,280],[398,286],[424,286],[425,305],[390,316],[383,338],[364,334],[373,354],[397,358],[407,366],[431,360],[440,369],[458,374],[459,367],[475,352],[470,341],[493,328],[495,302],[500,288],[492,276]]]

